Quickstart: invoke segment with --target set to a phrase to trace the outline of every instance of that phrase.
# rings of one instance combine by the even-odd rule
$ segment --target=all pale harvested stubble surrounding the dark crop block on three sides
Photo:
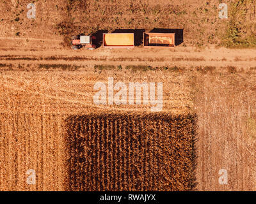
[[[93,105],[93,84],[109,76],[115,82],[163,81],[163,113],[196,113],[196,190],[255,190],[256,74],[230,71],[1,71],[1,190],[69,189],[68,117],[150,112],[144,105]],[[35,186],[26,184],[30,168],[36,170]],[[223,168],[228,185],[221,186]]]

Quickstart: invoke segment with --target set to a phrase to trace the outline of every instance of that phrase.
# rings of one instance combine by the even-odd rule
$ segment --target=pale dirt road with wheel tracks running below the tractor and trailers
[[[256,53],[252,49],[227,48],[140,48],[133,50],[78,50],[63,48],[61,39],[41,40],[10,38],[8,46],[0,38],[0,63],[2,64],[77,64],[93,67],[95,64],[111,65],[148,65],[148,66],[214,66],[224,68],[235,66],[238,69],[250,69],[256,66]]]

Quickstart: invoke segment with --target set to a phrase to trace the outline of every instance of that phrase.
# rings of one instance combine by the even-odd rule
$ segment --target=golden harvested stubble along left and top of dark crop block
[[[135,74],[138,72],[141,73],[140,76]],[[173,115],[191,112],[193,98],[188,78],[179,71],[164,72],[171,75],[162,76],[166,81],[166,86],[163,87],[163,112],[170,113],[168,107],[172,107],[170,114]],[[67,168],[69,154],[66,151],[72,143],[67,143],[65,121],[71,115],[151,112],[151,105],[143,104],[93,105],[93,94],[96,92],[93,85],[99,81],[108,83],[109,75],[115,76],[114,82],[143,82],[145,78],[159,82],[159,75],[162,74],[161,71],[156,75],[155,71],[94,68],[77,71],[39,69],[1,72],[0,162],[4,166],[0,175],[2,191],[70,189],[72,180],[67,182],[70,174]],[[172,79],[169,78],[171,76]],[[184,83],[180,84],[181,81]],[[29,169],[36,171],[35,185],[26,183],[26,171]],[[188,189],[188,186],[184,189]]]

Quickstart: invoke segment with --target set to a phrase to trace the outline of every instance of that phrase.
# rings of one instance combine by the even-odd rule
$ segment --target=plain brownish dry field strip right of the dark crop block
[[[255,82],[250,72],[196,77],[199,190],[255,191]],[[219,185],[220,169],[228,185]]]

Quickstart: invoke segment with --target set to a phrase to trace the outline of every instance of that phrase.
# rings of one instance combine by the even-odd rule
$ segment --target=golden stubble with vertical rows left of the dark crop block
[[[1,113],[0,191],[63,191],[63,115]],[[36,183],[28,185],[29,169]]]

